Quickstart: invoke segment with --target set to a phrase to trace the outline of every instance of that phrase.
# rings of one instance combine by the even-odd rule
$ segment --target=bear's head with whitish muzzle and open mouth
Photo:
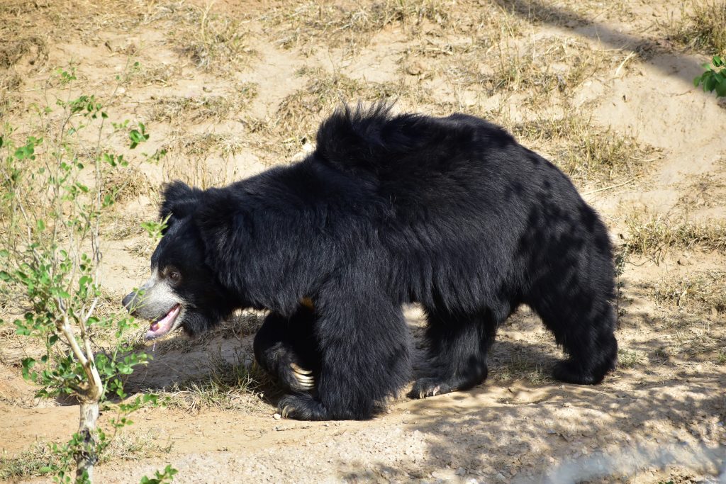
[[[203,197],[202,190],[181,181],[164,189],[160,218],[166,228],[151,257],[151,277],[123,298],[132,315],[151,321],[147,340],[177,328],[200,334],[234,310],[232,298],[205,260],[205,244],[195,221]]]

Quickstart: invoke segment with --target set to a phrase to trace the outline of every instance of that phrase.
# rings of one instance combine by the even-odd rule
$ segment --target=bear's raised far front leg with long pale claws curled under
[[[314,390],[320,369],[314,324],[314,311],[301,306],[290,318],[271,313],[255,336],[255,359],[285,390]]]

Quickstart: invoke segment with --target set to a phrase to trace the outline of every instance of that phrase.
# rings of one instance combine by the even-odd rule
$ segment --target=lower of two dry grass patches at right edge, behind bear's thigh
[[[653,287],[653,296],[686,311],[726,313],[726,272],[701,271],[682,278],[663,279]]]

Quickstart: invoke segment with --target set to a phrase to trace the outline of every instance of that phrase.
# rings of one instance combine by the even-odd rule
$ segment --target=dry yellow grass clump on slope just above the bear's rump
[[[600,128],[575,114],[515,124],[512,131],[523,144],[550,153],[553,163],[582,184],[640,176],[648,168],[646,163],[655,159],[655,150],[635,136]]]

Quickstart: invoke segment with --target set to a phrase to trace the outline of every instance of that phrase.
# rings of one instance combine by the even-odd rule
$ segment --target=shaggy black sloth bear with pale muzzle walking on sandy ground
[[[269,311],[256,358],[295,419],[369,419],[412,375],[404,303],[428,318],[416,398],[484,381],[497,327],[529,305],[568,354],[558,380],[616,363],[608,232],[558,168],[470,115],[343,107],[305,160],[224,188],[176,181],[152,277],[123,304],[148,338]]]

